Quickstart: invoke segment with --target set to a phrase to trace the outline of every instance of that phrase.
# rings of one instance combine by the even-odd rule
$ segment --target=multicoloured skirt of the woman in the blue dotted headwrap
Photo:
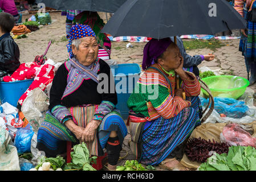
[[[96,105],[93,105],[70,107],[68,110],[73,119],[78,123],[78,126],[86,127],[92,121],[96,108]],[[119,142],[122,145],[124,137],[127,135],[127,127],[118,110],[113,110],[105,115],[97,129],[97,133],[95,133],[94,141],[86,142],[90,155],[104,155],[103,148],[108,141],[111,131],[117,132]],[[37,138],[36,148],[44,151],[47,157],[66,152],[67,141],[74,142],[75,144],[79,143],[75,135],[66,126],[62,125],[50,111],[47,111],[44,122],[39,127]]]

